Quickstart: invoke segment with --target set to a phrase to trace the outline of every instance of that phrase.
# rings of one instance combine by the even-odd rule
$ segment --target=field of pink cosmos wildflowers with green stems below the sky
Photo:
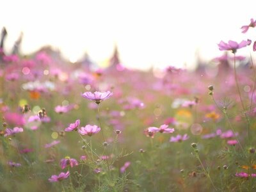
[[[1,49],[0,191],[255,191],[251,43],[212,45],[218,68],[194,72]]]

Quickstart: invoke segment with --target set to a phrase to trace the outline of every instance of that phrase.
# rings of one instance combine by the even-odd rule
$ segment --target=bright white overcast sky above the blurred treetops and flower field
[[[0,7],[6,51],[23,31],[24,54],[50,44],[71,60],[87,51],[100,64],[115,44],[125,66],[149,68],[191,66],[196,50],[205,60],[220,56],[220,40],[256,40],[256,28],[240,29],[256,19],[249,0],[3,0]]]

